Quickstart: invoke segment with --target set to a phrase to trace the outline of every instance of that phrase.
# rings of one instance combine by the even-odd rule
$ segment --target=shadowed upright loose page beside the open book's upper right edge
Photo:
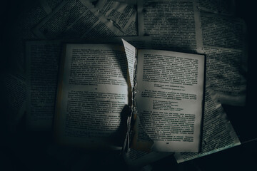
[[[201,13],[206,76],[218,100],[228,105],[246,102],[246,25],[241,19]]]

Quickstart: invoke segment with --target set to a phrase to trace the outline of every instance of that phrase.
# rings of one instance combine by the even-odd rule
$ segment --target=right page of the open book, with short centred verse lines
[[[136,108],[151,150],[199,150],[204,63],[203,55],[138,50]]]

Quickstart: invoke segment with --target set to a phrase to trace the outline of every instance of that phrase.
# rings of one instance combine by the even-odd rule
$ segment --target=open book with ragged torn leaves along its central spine
[[[205,56],[137,50],[126,41],[66,44],[63,51],[54,118],[58,142],[199,151]]]

